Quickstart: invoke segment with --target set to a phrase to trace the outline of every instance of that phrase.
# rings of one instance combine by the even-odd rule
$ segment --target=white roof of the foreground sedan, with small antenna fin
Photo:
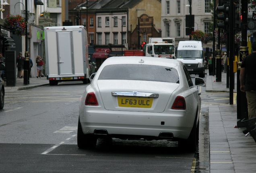
[[[182,65],[180,60],[168,59],[168,58],[157,58],[148,56],[112,56],[107,58],[103,64],[104,66],[110,64],[149,64],[159,66],[170,66],[178,67]],[[103,65],[102,64],[102,65]]]

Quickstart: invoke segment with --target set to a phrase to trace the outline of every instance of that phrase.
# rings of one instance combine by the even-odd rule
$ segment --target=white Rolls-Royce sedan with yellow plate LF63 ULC
[[[145,56],[107,58],[79,104],[77,145],[98,138],[166,139],[195,151],[200,93],[179,60]],[[196,85],[204,85],[195,78]]]

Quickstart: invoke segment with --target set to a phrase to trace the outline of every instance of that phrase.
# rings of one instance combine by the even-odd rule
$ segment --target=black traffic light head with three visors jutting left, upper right
[[[222,22],[218,23],[218,28],[222,28],[224,30],[228,30],[229,25],[229,6],[224,4],[223,6],[218,6],[217,11],[221,14],[218,14],[217,18],[222,20]]]

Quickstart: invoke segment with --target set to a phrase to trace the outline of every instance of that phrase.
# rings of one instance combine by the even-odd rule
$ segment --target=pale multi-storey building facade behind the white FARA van
[[[161,9],[161,29],[162,37],[174,37],[175,45],[179,41],[189,40],[186,35],[186,15],[189,15],[190,0],[162,0]],[[194,30],[202,30],[205,33],[209,30],[209,24],[212,22],[210,9],[211,0],[192,0],[191,8],[194,15]],[[213,47],[213,43],[204,45],[204,48]]]

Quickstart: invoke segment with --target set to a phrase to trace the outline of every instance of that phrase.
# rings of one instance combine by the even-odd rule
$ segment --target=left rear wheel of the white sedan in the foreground
[[[81,149],[93,149],[96,147],[97,138],[91,135],[85,135],[82,130],[80,119],[77,126],[77,146]]]

